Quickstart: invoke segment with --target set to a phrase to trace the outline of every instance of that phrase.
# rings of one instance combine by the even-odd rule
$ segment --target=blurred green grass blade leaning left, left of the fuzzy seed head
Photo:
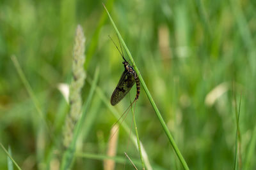
[[[43,123],[44,123],[44,125],[46,127],[47,133],[49,134],[49,136],[52,139],[52,134],[51,134],[50,128],[49,128],[49,126],[48,126],[48,124],[47,124],[47,122],[45,120],[44,114],[43,114],[43,112],[42,112],[42,110],[40,108],[38,100],[36,99],[36,96],[35,96],[32,88],[31,88],[31,86],[29,85],[29,82],[26,79],[25,74],[23,73],[23,71],[22,71],[22,69],[20,67],[20,64],[19,64],[19,62],[17,60],[17,57],[15,55],[12,55],[11,59],[13,61],[13,64],[14,64],[14,66],[15,66],[18,74],[19,74],[19,76],[20,76],[20,79],[22,80],[22,83],[24,84],[26,90],[28,91],[29,96],[31,97],[31,99],[32,99],[32,101],[33,101],[33,103],[35,105],[35,108],[36,108],[36,111],[37,111],[39,117],[42,119],[42,121],[43,121]]]

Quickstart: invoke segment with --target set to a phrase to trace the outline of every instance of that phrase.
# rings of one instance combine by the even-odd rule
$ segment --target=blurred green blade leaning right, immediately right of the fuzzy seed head
[[[92,87],[90,89],[87,101],[83,106],[83,113],[81,115],[81,118],[78,120],[76,127],[74,129],[74,136],[72,138],[71,144],[68,147],[68,149],[65,151],[63,159],[61,160],[61,169],[69,169],[72,164],[72,161],[74,159],[74,153],[76,152],[76,141],[79,136],[79,132],[81,132],[81,127],[83,125],[84,118],[86,116],[86,111],[88,110],[88,107],[90,106],[90,102],[92,101],[92,97],[95,92],[95,88],[97,87],[98,80],[99,80],[99,67],[97,67],[95,70]]]

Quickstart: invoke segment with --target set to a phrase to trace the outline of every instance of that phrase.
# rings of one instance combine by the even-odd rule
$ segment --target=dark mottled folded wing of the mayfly
[[[124,96],[131,90],[134,83],[134,76],[127,70],[125,70],[120,80],[118,81],[116,89],[111,96],[111,104],[115,106],[117,103],[119,103],[124,98]]]

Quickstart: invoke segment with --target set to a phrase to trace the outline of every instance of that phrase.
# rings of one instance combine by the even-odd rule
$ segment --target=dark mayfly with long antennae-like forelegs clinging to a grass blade
[[[113,41],[113,39],[109,36],[109,38]],[[115,44],[115,42],[113,41]],[[119,41],[120,43],[120,41]],[[115,44],[116,46],[116,44]],[[122,58],[124,61],[122,62],[124,64],[124,72],[118,81],[118,84],[116,86],[116,89],[114,90],[110,103],[115,106],[118,104],[124,97],[125,95],[131,90],[132,86],[136,82],[136,87],[137,87],[137,93],[134,101],[137,101],[140,96],[140,79],[138,78],[138,74],[134,70],[132,66],[130,66],[129,62],[125,60],[123,52],[121,53],[118,47],[116,46],[118,52],[122,55]],[[120,45],[120,48],[122,50],[122,46]],[[134,103],[134,101],[132,103]]]

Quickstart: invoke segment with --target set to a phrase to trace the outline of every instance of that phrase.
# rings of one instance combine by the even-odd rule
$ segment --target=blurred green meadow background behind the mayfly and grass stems
[[[233,169],[236,105],[240,110],[239,167],[256,169],[256,1],[103,1],[141,71],[180,152],[191,169]],[[102,1],[0,1],[0,142],[12,148],[22,169],[58,169],[62,125],[68,104],[59,83],[70,83],[77,24],[86,36],[86,74],[100,68],[98,86],[110,101],[124,71]],[[16,55],[52,130],[42,117],[10,58]],[[127,56],[126,56],[127,57]],[[85,82],[84,101],[90,90]],[[131,99],[136,88],[130,92]],[[236,101],[235,101],[236,99]],[[110,103],[109,103],[110,104]],[[117,106],[121,114],[129,96]],[[238,106],[237,106],[238,107]],[[140,139],[153,169],[182,169],[145,92],[136,103]],[[77,146],[81,153],[106,155],[116,122],[98,94],[88,110]],[[134,129],[131,113],[125,122]],[[132,130],[133,131],[133,130]],[[120,127],[117,156],[140,160]],[[0,149],[0,169],[7,169]],[[116,169],[123,169],[117,163]],[[139,166],[140,167],[140,166]],[[103,161],[76,157],[73,169],[103,169]],[[133,169],[129,163],[125,169]]]

